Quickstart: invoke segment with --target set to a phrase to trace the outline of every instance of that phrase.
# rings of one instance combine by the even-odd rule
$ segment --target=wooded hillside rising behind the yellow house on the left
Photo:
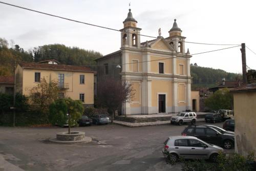
[[[44,45],[25,51],[18,45],[14,45],[13,40],[8,42],[6,39],[0,38],[0,76],[13,75],[15,61],[39,62],[56,59],[66,65],[95,66],[95,59],[101,56],[102,54],[99,52],[60,44]],[[92,69],[94,68],[92,67]]]

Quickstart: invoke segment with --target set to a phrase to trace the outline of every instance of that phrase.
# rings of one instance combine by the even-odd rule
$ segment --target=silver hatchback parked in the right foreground
[[[173,136],[164,142],[162,153],[176,162],[180,157],[185,159],[210,159],[216,161],[223,148],[204,142],[193,136]]]

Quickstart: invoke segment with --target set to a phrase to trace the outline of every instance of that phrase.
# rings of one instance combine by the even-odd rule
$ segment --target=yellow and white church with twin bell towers
[[[96,61],[98,81],[114,77],[133,83],[135,96],[123,104],[122,114],[192,110],[191,56],[185,51],[185,37],[176,19],[168,37],[162,37],[159,29],[156,39],[140,42],[141,29],[129,9],[120,31],[120,50]],[[116,68],[117,65],[121,69]]]

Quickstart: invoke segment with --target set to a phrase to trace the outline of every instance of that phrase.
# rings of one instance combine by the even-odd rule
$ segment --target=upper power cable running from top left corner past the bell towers
[[[45,14],[45,15],[49,15],[49,16],[53,16],[53,17],[57,17],[57,18],[61,18],[61,19],[66,19],[66,20],[70,20],[71,22],[76,22],[76,23],[81,23],[81,24],[85,24],[85,25],[89,25],[89,26],[94,26],[94,27],[99,27],[99,28],[103,28],[103,29],[108,29],[108,30],[113,30],[113,31],[118,31],[118,32],[123,32],[123,33],[127,33],[125,31],[120,31],[120,30],[117,30],[117,29],[112,29],[112,28],[109,28],[109,27],[104,27],[104,26],[99,26],[99,25],[94,25],[94,24],[90,24],[90,23],[86,23],[86,22],[80,22],[78,20],[75,20],[75,19],[70,19],[70,18],[66,18],[66,17],[61,17],[61,16],[57,16],[57,15],[53,15],[53,14],[49,14],[49,13],[46,13],[46,12],[41,12],[41,11],[37,11],[37,10],[33,10],[33,9],[29,9],[29,8],[25,8],[25,7],[21,7],[21,6],[17,6],[17,5],[13,5],[13,4],[8,4],[8,3],[5,3],[5,2],[1,2],[0,3],[2,4],[5,4],[5,5],[9,5],[9,6],[13,6],[13,7],[17,7],[17,8],[21,8],[21,9],[25,9],[25,10],[29,10],[29,11],[33,11],[33,12],[37,12],[37,13],[40,13],[40,14]],[[129,33],[129,32],[128,32]],[[131,33],[132,34],[132,33]],[[157,38],[155,36],[148,36],[148,35],[144,35],[144,34],[138,34],[140,36],[145,36],[145,37],[151,37],[151,38]],[[200,44],[200,45],[224,45],[224,46],[236,46],[236,45],[228,45],[228,44],[205,44],[205,43],[200,43],[200,42],[191,42],[191,41],[185,41],[187,43],[190,43],[190,44]],[[249,49],[249,48],[248,48]],[[254,53],[254,52],[253,52]]]

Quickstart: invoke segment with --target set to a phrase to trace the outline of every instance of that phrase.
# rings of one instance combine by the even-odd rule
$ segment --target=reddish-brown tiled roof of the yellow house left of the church
[[[83,66],[53,65],[48,63],[34,63],[34,62],[19,62],[18,64],[22,68],[29,68],[29,69],[94,72],[90,68],[83,67]]]

